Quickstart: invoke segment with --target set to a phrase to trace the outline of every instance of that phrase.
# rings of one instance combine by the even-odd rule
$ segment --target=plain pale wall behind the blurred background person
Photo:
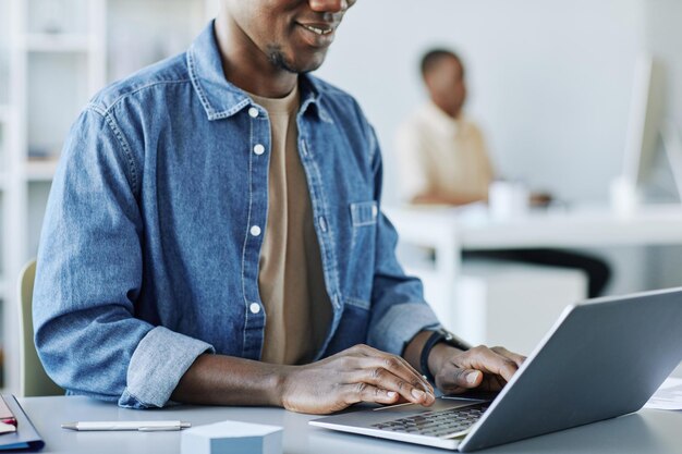
[[[646,2],[361,0],[319,75],[356,95],[376,125],[389,199],[392,137],[423,99],[418,59],[442,45],[466,61],[468,111],[499,173],[568,200],[606,200],[620,172]]]

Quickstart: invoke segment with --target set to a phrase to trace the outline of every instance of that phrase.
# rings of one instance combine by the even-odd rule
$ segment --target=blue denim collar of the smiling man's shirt
[[[252,103],[248,95],[228,82],[222,70],[220,50],[214,34],[211,21],[194,40],[187,51],[187,68],[194,90],[204,106],[209,121],[232,116]],[[310,112],[330,122],[329,115],[320,106],[320,87],[312,76],[299,76],[301,89],[300,113]]]

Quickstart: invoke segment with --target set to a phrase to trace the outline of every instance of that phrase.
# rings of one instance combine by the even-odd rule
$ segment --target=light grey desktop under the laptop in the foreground
[[[60,424],[76,420],[181,419],[194,427],[234,419],[282,426],[287,454],[395,454],[448,451],[308,426],[316,416],[280,408],[191,407],[132,410],[87,397],[19,400],[46,443],[42,453],[135,454],[180,453],[181,432],[75,432]],[[521,410],[521,409],[520,409]],[[682,453],[682,412],[641,410],[593,425],[492,447],[490,453]]]

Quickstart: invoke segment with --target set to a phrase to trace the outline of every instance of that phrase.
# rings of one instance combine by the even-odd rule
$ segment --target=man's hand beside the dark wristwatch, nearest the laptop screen
[[[431,349],[428,364],[438,389],[446,394],[456,394],[474,388],[500,391],[524,360],[524,356],[503,347],[477,346],[461,352],[438,344]]]

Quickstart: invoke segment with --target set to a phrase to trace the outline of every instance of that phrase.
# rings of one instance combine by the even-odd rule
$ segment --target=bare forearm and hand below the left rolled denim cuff
[[[193,404],[272,405],[327,414],[357,402],[430,405],[434,390],[401,357],[356,345],[305,366],[200,355],[171,398]]]

